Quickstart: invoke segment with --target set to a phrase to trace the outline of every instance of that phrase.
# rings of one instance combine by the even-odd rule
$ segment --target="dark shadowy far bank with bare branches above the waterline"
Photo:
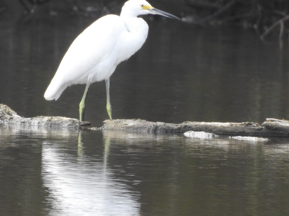
[[[119,14],[123,0],[0,0],[1,20],[19,16],[39,17],[61,13],[83,16]],[[151,0],[153,7],[200,25],[241,25],[264,33],[275,22],[285,18],[289,2],[282,0]]]

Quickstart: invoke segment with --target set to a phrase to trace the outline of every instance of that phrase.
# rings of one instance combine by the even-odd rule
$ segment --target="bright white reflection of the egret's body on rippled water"
[[[50,215],[139,215],[139,195],[117,181],[103,160],[43,143],[42,180]]]

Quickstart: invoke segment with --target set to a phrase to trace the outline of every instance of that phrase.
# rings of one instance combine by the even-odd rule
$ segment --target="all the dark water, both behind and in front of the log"
[[[0,22],[0,103],[78,118],[84,91],[43,94],[89,18]],[[288,48],[255,32],[149,21],[142,49],[111,77],[115,118],[262,123],[289,118]],[[104,82],[86,120],[107,119]],[[189,139],[0,125],[2,215],[288,215],[289,141]]]

